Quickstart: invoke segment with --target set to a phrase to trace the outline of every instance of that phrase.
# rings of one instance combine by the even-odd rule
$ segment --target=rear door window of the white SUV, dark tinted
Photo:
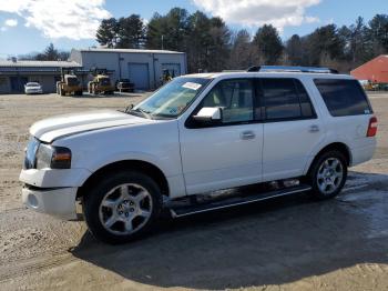
[[[314,117],[306,89],[294,79],[262,79],[262,96],[267,120]]]

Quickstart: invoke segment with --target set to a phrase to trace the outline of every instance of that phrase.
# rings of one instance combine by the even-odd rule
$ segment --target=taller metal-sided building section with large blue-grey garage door
[[[79,63],[83,70],[93,68],[112,71],[112,80],[130,79],[135,89],[155,89],[161,84],[163,70],[173,77],[186,74],[186,54],[165,50],[135,49],[86,49],[72,50],[70,61]]]

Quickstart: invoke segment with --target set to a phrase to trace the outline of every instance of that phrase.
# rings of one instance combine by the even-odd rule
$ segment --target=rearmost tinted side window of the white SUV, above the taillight
[[[357,80],[314,80],[333,117],[370,114],[372,110]]]

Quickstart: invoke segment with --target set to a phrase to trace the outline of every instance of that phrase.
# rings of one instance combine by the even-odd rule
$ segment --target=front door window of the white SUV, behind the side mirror
[[[223,108],[223,123],[252,121],[253,97],[251,80],[221,81],[205,97],[202,108]]]

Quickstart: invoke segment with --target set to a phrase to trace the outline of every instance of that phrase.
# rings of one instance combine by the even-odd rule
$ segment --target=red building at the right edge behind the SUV
[[[388,54],[380,56],[350,72],[358,80],[374,83],[388,83]]]

